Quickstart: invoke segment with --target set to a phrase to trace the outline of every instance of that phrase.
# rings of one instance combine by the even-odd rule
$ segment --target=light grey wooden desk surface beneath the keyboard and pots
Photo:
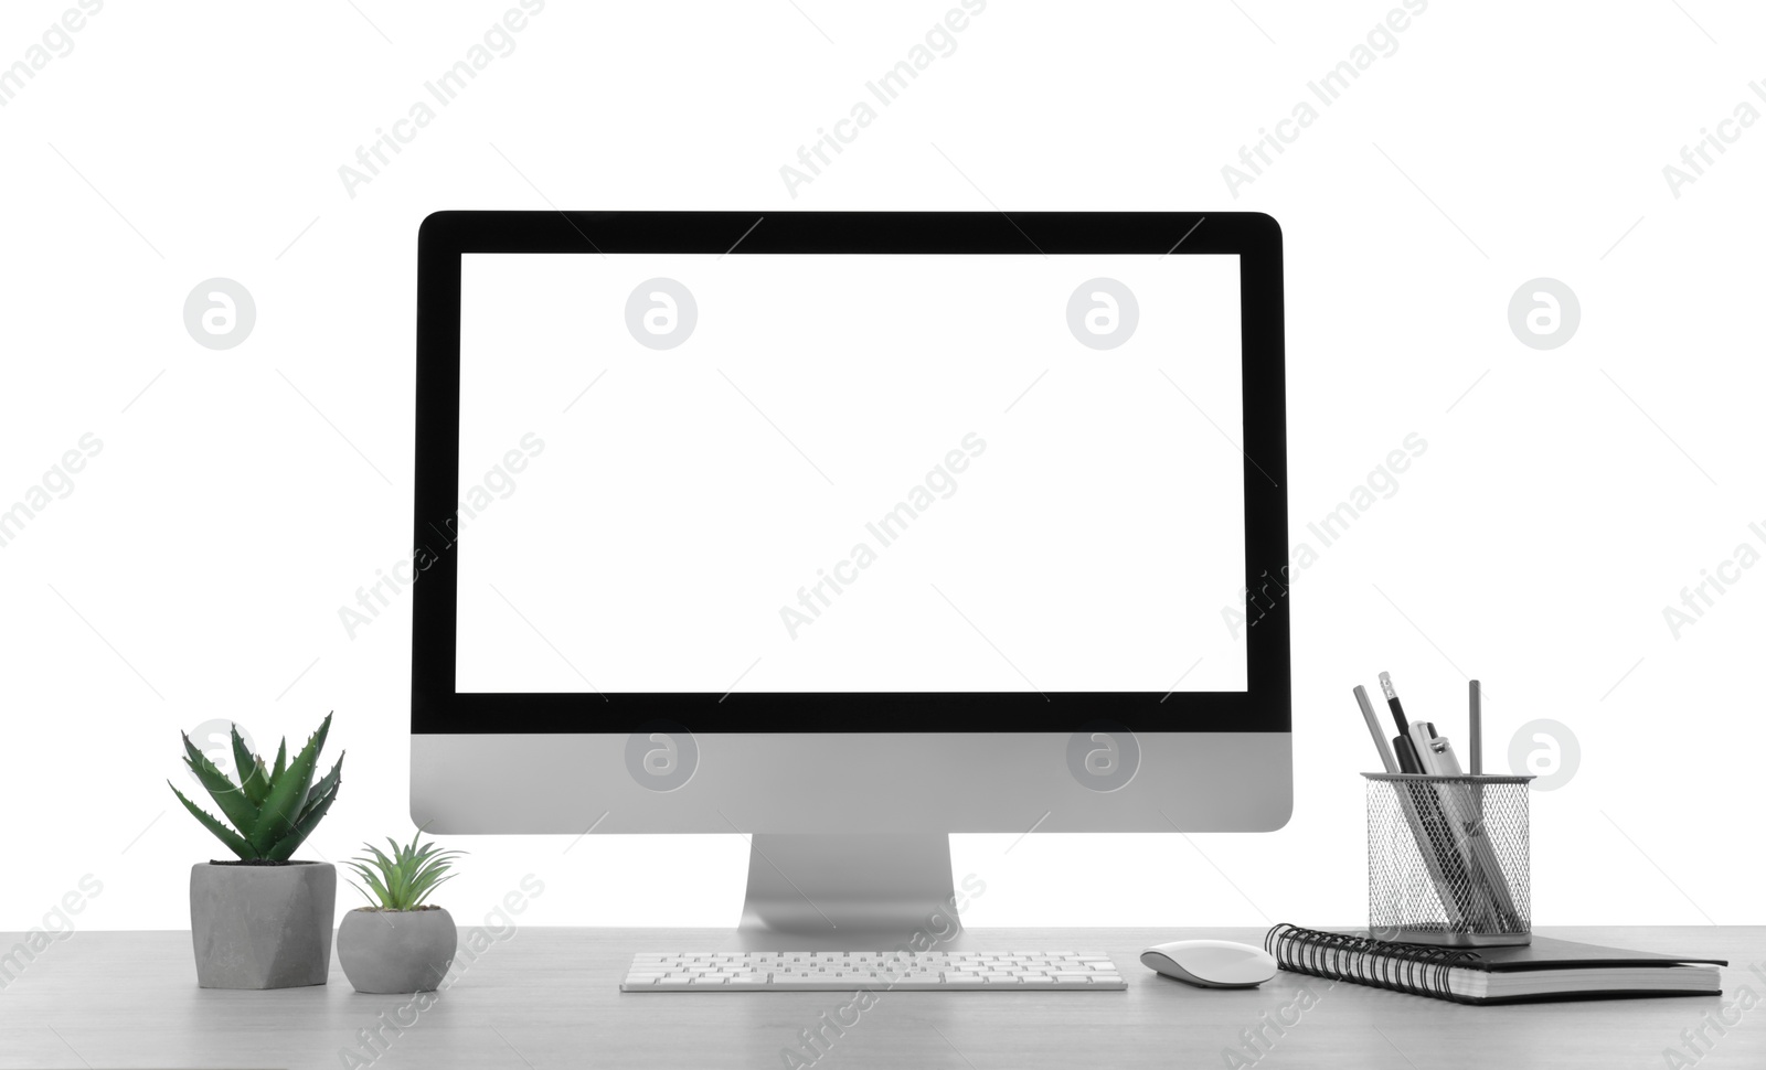
[[[1699,1070],[1766,1066],[1766,994],[1747,968],[1766,961],[1766,929],[1542,929],[1586,943],[1729,959],[1724,996],[1462,1006],[1280,973],[1261,989],[1203,991],[1162,978],[1139,952],[1213,936],[1261,943],[1261,929],[978,929],[987,950],[1102,950],[1127,992],[878,992],[825,1052],[802,1047],[849,992],[643,992],[620,978],[638,952],[735,946],[722,929],[507,931],[456,961],[449,987],[364,996],[336,955],[328,985],[270,992],[196,987],[189,932],[74,932],[0,991],[0,1068],[48,1066],[1227,1066],[1356,1070],[1446,1066],[1664,1066],[1683,1029],[1704,1028]],[[0,950],[19,934],[0,934]],[[1766,966],[1762,966],[1766,971]],[[0,978],[4,980],[4,978]],[[1302,998],[1302,989],[1310,996]],[[429,1005],[433,1001],[433,1005]],[[1241,1033],[1266,1012],[1310,1006],[1252,1059]],[[1711,1028],[1718,1008],[1732,1022]],[[1740,1024],[1734,1024],[1741,1013]],[[385,1015],[385,1017],[381,1017]],[[1293,1021],[1294,1010],[1286,1012]],[[397,1022],[404,1022],[399,1029]],[[848,1015],[851,1021],[851,1015]],[[392,1022],[392,1024],[387,1024]],[[364,1047],[366,1029],[378,1029]],[[1718,1029],[1724,1029],[1718,1035]],[[830,1033],[832,1035],[832,1033]],[[798,1051],[791,1063],[784,1051]],[[1226,1052],[1240,1051],[1240,1063]],[[353,1059],[344,1052],[353,1052]],[[811,1059],[814,1056],[814,1061]]]

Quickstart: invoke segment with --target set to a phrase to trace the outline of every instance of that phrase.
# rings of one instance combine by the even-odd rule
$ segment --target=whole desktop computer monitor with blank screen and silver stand
[[[417,313],[424,828],[743,833],[857,946],[954,832],[1287,821],[1268,215],[440,212]]]

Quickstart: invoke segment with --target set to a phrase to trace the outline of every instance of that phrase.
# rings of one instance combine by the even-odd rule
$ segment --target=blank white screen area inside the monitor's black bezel
[[[457,687],[1245,690],[1238,334],[1234,256],[468,256]]]

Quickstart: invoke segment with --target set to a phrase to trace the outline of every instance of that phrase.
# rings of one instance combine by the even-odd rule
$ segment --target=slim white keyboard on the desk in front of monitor
[[[680,952],[636,955],[622,992],[1097,992],[1109,955],[1074,952]]]

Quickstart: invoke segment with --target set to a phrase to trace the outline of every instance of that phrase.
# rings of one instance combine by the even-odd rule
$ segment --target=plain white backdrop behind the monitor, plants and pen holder
[[[0,60],[64,7],[7,4]],[[1766,922],[1766,572],[1678,639],[1662,618],[1766,521],[1766,127],[1678,198],[1662,175],[1738,101],[1766,108],[1757,7],[1436,0],[1234,198],[1222,164],[1390,4],[996,0],[795,200],[781,164],[947,4],[553,0],[351,198],[337,168],[505,4],[357,7],[111,2],[0,109],[0,500],[104,441],[0,549],[0,927],[87,872],[79,925],[185,925],[215,844],[164,779],[177,729],[214,717],[263,742],[336,708],[350,757],[309,855],[403,835],[410,600],[353,641],[337,607],[411,549],[417,226],[547,205],[1270,212],[1294,540],[1406,434],[1429,443],[1294,583],[1291,825],[961,837],[987,881],[971,923],[1353,923],[1349,687],[1381,669],[1455,740],[1482,676],[1492,766],[1538,717],[1581,740],[1535,795],[1538,922]],[[258,302],[228,351],[180,318],[215,275]],[[1506,321],[1542,275],[1582,309],[1549,351]],[[459,846],[447,904],[475,916],[535,872],[540,923],[731,923],[747,858],[735,835]]]

